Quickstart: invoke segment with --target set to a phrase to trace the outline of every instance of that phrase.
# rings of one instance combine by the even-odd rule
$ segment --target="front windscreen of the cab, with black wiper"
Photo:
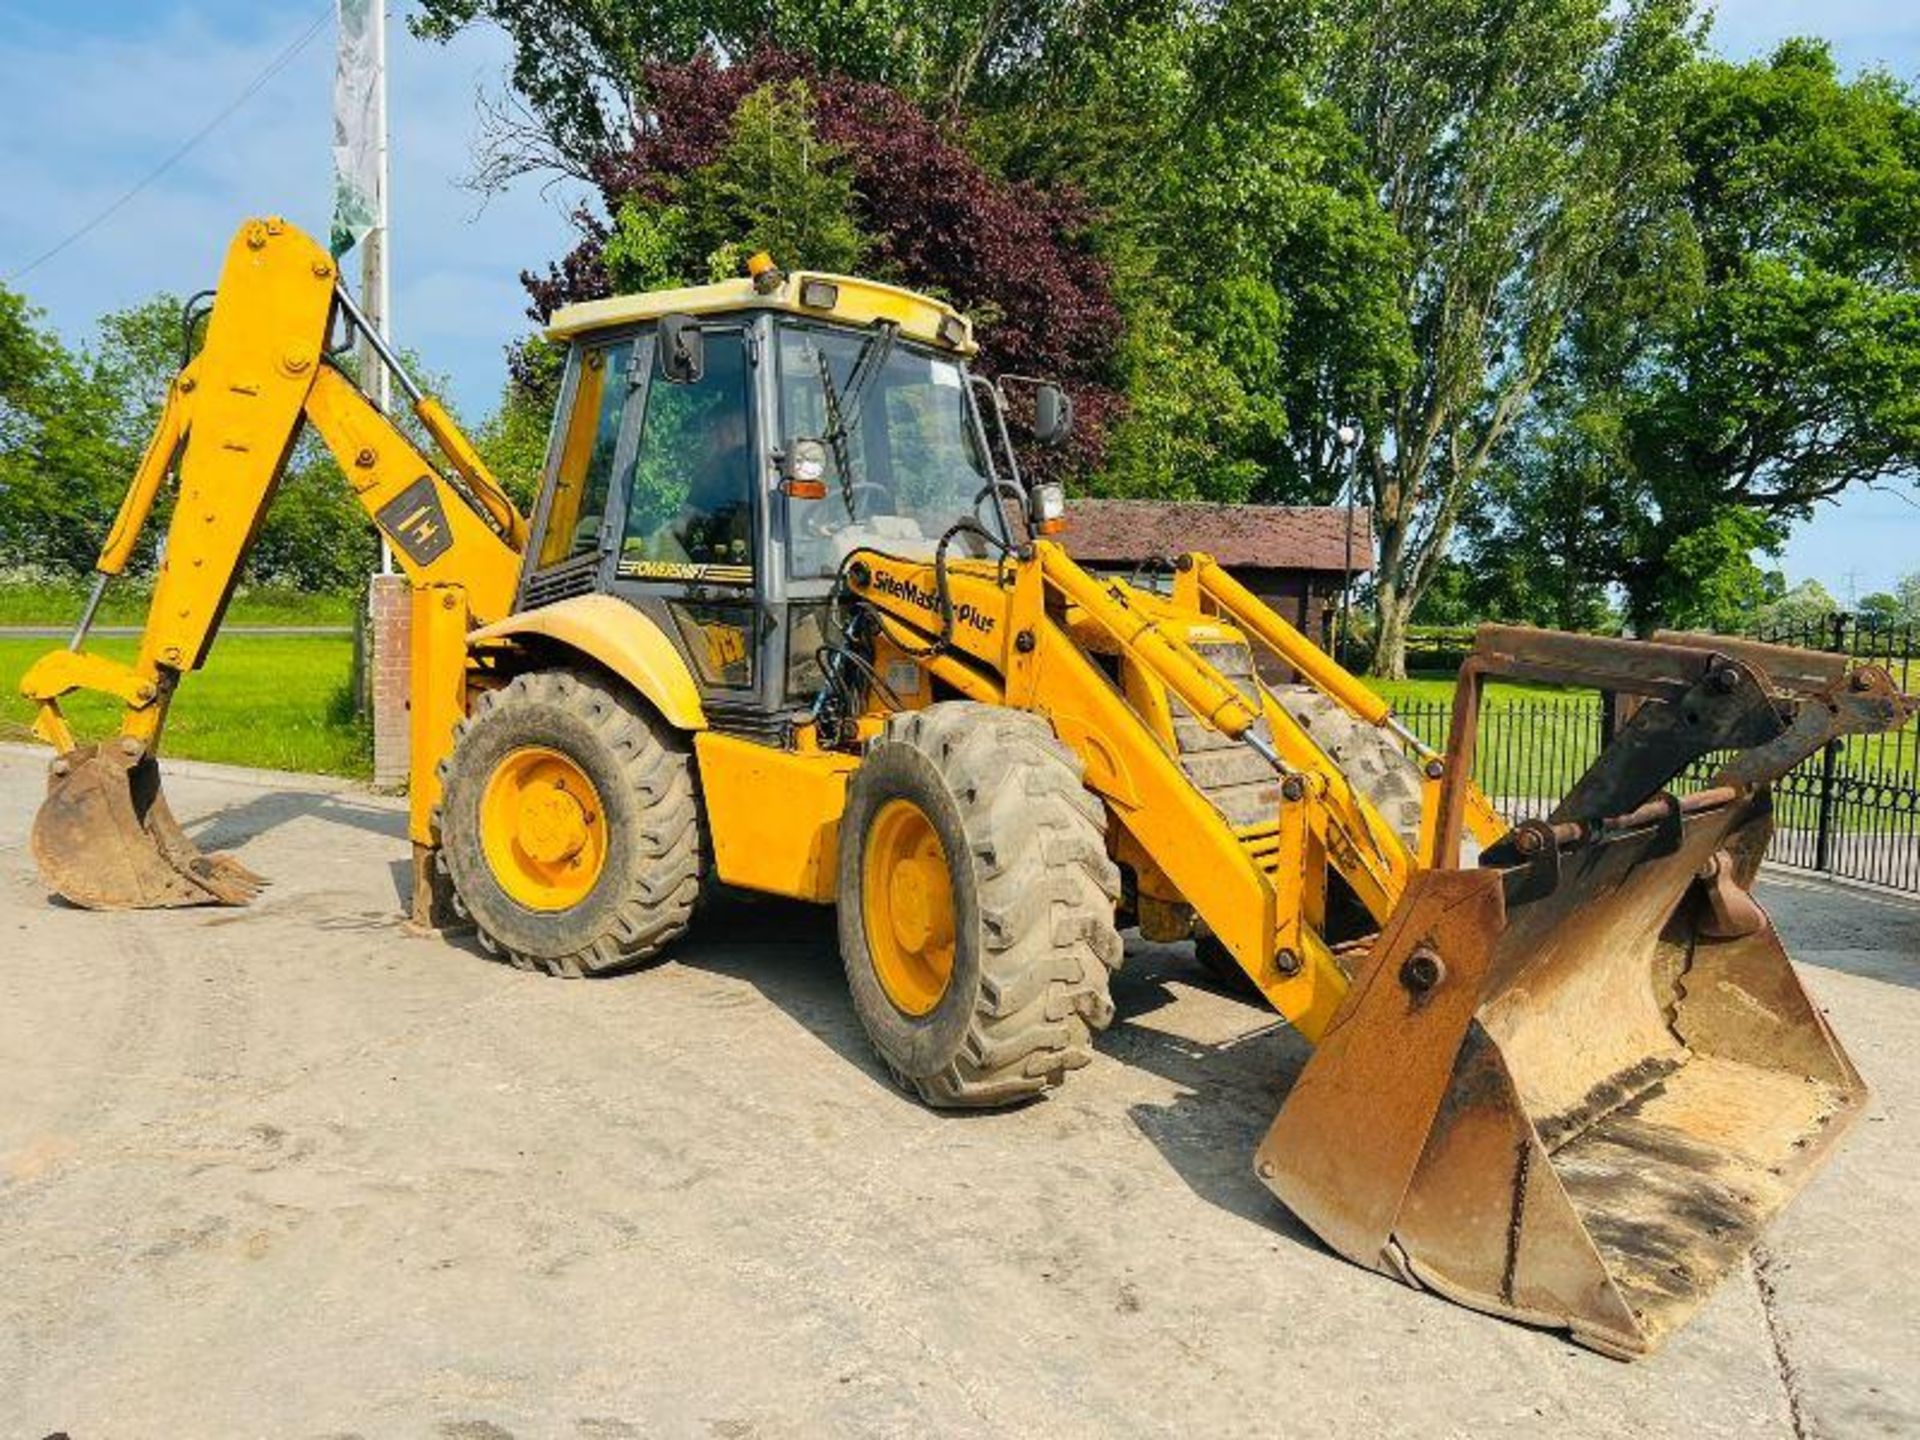
[[[1004,532],[966,372],[945,355],[908,344],[881,351],[885,344],[874,330],[780,330],[780,432],[789,445],[828,442],[826,499],[787,501],[795,578],[831,578],[862,545],[931,559],[939,538],[966,518]],[[866,346],[876,349],[854,394]],[[845,434],[835,434],[835,417]],[[948,555],[987,549],[979,536],[960,536]]]

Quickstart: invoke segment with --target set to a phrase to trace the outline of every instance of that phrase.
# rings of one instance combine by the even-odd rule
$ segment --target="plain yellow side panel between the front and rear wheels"
[[[833,900],[851,755],[793,753],[735,735],[693,737],[714,868],[728,885]]]

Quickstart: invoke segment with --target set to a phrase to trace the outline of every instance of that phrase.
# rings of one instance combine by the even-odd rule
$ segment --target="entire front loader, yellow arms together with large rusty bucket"
[[[945,597],[931,566],[881,555],[849,580],[881,614],[883,659],[1044,714],[1142,895],[1158,872],[1315,1043],[1256,1173],[1357,1263],[1645,1354],[1859,1114],[1864,1087],[1749,887],[1768,781],[1914,714],[1884,670],[1715,636],[1484,626],[1442,756],[1202,555],[1177,563],[1171,597],[1046,541],[948,566]],[[1419,854],[1263,685],[1188,643],[1210,620],[1402,739],[1427,774]],[[1275,826],[1227,824],[1089,655],[1089,626],[1273,766]],[[1509,828],[1473,785],[1486,678],[1638,699],[1548,820]],[[1379,922],[1363,950],[1321,939],[1329,874]]]

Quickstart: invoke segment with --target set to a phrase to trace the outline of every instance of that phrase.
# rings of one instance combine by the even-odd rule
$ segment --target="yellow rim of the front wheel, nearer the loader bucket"
[[[954,973],[954,887],[933,822],[887,801],[866,829],[860,902],[874,973],[895,1008],[924,1016]]]

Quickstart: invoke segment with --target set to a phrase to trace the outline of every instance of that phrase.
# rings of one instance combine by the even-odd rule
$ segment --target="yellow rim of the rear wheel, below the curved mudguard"
[[[607,866],[607,810],[570,756],[528,745],[486,781],[480,849],[511,900],[566,910],[593,893]]]

